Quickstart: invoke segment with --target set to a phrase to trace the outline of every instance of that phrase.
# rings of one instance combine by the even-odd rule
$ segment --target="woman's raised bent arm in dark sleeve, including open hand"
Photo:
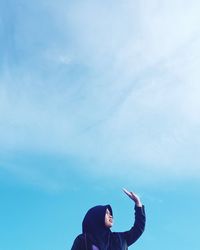
[[[122,237],[126,240],[127,245],[133,244],[144,232],[146,216],[145,209],[140,201],[140,198],[133,192],[128,192],[124,189],[124,192],[129,196],[131,200],[135,202],[135,222],[133,227],[126,232],[122,233]]]

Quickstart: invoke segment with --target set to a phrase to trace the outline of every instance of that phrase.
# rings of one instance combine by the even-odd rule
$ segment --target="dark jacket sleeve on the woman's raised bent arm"
[[[135,206],[135,222],[129,231],[121,233],[122,237],[126,240],[127,245],[133,244],[144,232],[146,223],[146,215],[144,206]]]

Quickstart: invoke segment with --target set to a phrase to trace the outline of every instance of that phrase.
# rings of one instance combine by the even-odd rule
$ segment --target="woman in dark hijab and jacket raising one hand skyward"
[[[143,233],[146,216],[140,198],[126,189],[123,191],[135,203],[135,222],[129,231],[112,232],[113,212],[110,205],[88,210],[82,222],[82,234],[74,240],[71,250],[127,250]]]

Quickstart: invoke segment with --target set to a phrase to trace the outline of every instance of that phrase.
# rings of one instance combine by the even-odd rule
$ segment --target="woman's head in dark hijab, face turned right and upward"
[[[95,206],[88,210],[82,223],[83,233],[96,233],[109,230],[113,225],[110,205]]]

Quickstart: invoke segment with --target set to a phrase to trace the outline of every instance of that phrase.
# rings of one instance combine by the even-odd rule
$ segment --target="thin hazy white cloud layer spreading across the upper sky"
[[[4,29],[18,64],[14,52],[2,62],[1,147],[72,155],[99,175],[199,176],[199,9],[198,1],[18,6],[14,34]]]

